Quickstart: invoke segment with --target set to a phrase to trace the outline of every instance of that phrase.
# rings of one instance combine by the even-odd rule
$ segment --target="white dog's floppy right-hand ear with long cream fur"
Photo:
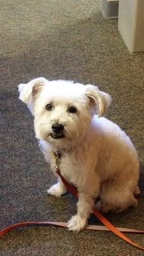
[[[94,106],[98,117],[106,113],[106,109],[111,104],[111,96],[106,92],[101,92],[97,86],[87,84],[86,96],[90,99],[90,104]]]

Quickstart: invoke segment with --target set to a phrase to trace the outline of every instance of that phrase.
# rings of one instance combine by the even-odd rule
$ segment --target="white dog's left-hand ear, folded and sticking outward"
[[[26,104],[31,104],[33,97],[41,91],[46,81],[44,77],[39,77],[31,80],[28,84],[19,84],[19,99]]]

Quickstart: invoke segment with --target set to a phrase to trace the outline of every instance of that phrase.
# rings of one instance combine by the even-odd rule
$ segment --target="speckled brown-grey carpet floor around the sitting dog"
[[[117,227],[144,227],[144,54],[129,54],[117,20],[105,20],[101,1],[1,0],[1,206],[0,226],[19,221],[67,221],[76,212],[69,194],[46,193],[55,178],[33,130],[33,117],[18,99],[17,84],[34,77],[98,84],[113,102],[108,118],[131,137],[140,156],[141,197],[135,208],[106,214]],[[95,218],[90,223],[99,224]],[[142,235],[129,235],[143,244]],[[143,255],[111,233],[31,227],[0,241],[1,256]]]

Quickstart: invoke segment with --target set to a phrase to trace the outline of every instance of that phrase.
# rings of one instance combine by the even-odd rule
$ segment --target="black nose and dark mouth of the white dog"
[[[51,138],[58,140],[65,138],[64,125],[60,123],[52,124]]]

